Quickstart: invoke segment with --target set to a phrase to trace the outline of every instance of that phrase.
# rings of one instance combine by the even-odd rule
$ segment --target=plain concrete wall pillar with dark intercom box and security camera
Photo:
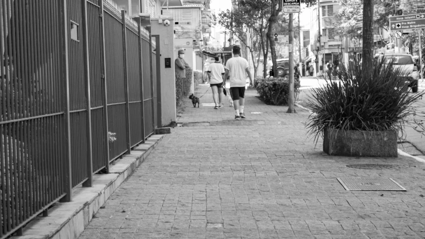
[[[173,18],[166,18],[170,21],[169,26],[163,24],[164,18],[152,19],[151,29],[152,35],[160,36],[160,72],[157,72],[159,79],[161,79],[161,123],[168,125],[171,122],[176,122],[176,76],[174,68],[174,60],[176,54],[174,51],[174,20]],[[159,23],[161,22],[161,23]],[[158,46],[157,46],[158,49]],[[158,54],[158,52],[157,52]],[[165,68],[165,58],[171,58],[171,68]]]

